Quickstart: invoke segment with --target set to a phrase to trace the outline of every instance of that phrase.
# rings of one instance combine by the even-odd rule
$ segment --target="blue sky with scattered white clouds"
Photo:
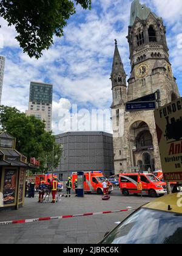
[[[15,40],[15,28],[8,27],[7,22],[0,18],[0,54],[6,59],[1,103],[25,112],[29,105],[30,81],[51,83],[53,133],[70,130],[112,132],[110,73],[114,40],[118,40],[121,59],[126,73],[130,76],[126,36],[131,2],[92,0],[92,10],[83,10],[78,6],[76,14],[70,18],[64,29],[64,37],[54,38],[52,48],[44,51],[39,60],[30,59],[22,52]],[[182,1],[140,2],[146,3],[152,12],[164,20],[170,62],[182,94]],[[106,114],[104,118],[102,112]],[[79,121],[76,124],[75,118]],[[74,126],[71,125],[73,123]]]

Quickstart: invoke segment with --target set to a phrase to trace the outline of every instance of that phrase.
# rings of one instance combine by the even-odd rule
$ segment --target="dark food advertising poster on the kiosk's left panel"
[[[4,174],[4,188],[3,188],[3,201],[4,205],[15,204],[16,196],[16,169],[5,169]]]

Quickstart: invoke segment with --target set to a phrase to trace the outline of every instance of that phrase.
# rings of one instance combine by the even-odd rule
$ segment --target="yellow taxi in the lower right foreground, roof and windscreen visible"
[[[127,217],[100,244],[182,244],[182,193],[144,205]]]

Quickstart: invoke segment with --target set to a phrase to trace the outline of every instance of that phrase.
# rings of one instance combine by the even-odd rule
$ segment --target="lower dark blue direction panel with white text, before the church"
[[[126,103],[126,111],[154,110],[155,108],[156,108],[155,101]]]

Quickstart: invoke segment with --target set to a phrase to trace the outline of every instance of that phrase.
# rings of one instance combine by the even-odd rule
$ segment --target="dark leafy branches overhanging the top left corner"
[[[0,16],[15,26],[16,39],[29,56],[39,59],[53,44],[53,35],[63,36],[63,29],[76,5],[91,8],[91,0],[1,0]]]

